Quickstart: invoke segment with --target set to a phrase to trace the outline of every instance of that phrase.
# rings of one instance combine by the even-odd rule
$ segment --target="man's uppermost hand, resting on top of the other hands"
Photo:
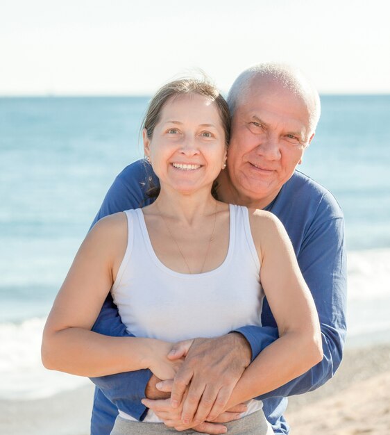
[[[183,400],[183,424],[215,420],[251,362],[251,347],[244,336],[232,333],[218,338],[196,338],[192,345],[188,341],[177,343],[168,358],[183,356],[185,361],[173,379],[171,405],[179,407],[189,386]]]

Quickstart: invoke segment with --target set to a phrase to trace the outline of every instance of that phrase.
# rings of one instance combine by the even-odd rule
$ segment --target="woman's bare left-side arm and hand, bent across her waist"
[[[88,377],[142,368],[160,379],[174,375],[175,366],[165,356],[169,343],[90,331],[124,257],[126,234],[126,215],[117,213],[99,221],[85,238],[44,328],[46,368]]]

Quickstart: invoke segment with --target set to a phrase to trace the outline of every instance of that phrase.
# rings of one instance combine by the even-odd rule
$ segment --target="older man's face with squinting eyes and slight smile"
[[[254,81],[237,102],[228,149],[228,175],[241,202],[269,204],[301,163],[309,135],[303,99],[278,83]]]

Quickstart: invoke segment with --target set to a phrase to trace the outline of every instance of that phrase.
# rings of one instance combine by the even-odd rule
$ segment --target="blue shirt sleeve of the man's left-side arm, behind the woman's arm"
[[[144,192],[145,179],[149,177],[145,169],[144,164],[137,161],[117,176],[105,195],[91,227],[102,217],[130,208],[139,208],[149,202]],[[121,322],[117,306],[110,293],[105,299],[92,331],[106,336],[133,336]],[[137,420],[142,420],[146,415],[146,407],[141,403],[141,399],[145,397],[146,384],[151,375],[150,370],[137,370],[90,379],[117,409],[121,409]]]

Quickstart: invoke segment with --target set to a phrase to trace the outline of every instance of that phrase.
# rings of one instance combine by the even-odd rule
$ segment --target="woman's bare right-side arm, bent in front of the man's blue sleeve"
[[[261,261],[260,281],[280,338],[248,366],[228,407],[286,384],[323,358],[316,306],[285,228],[271,213],[254,211],[251,230]]]

